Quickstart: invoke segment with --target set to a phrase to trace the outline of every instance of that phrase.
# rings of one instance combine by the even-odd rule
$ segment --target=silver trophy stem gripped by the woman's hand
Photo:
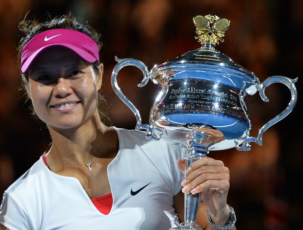
[[[197,128],[197,127],[194,127]],[[204,125],[203,128],[206,128]],[[212,128],[212,127],[207,127]],[[206,157],[209,153],[207,142],[209,142],[209,134],[206,132],[198,131],[192,129],[189,132],[189,139],[188,139],[188,155],[185,157],[185,171],[186,169],[196,160]],[[187,176],[185,172],[185,177]],[[178,227],[170,228],[179,229],[179,230],[200,230],[200,226],[196,224],[196,217],[198,212],[199,200],[200,200],[200,193],[196,194],[184,194],[185,202],[184,202],[184,209],[185,209],[185,222],[179,224]]]

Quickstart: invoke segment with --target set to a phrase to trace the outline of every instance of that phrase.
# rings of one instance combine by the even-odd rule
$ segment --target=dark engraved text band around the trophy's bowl
[[[171,81],[164,114],[213,113],[247,121],[239,100],[239,92],[227,85],[198,79]]]

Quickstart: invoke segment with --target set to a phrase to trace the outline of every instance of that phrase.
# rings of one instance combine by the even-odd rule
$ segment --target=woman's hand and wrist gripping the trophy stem
[[[185,160],[179,159],[178,166],[184,173]],[[201,199],[207,205],[210,217],[216,224],[229,222],[230,209],[226,199],[230,188],[230,171],[222,161],[204,157],[193,162],[186,170],[181,183],[184,193],[201,193]]]

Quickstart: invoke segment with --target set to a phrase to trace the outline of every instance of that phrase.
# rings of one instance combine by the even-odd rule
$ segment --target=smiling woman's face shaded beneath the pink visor
[[[96,112],[102,71],[72,50],[50,47],[28,70],[27,91],[38,117],[54,128],[76,128]]]

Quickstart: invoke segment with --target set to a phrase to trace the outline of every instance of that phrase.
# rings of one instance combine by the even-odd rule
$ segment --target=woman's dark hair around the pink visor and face
[[[88,35],[91,37],[98,45],[99,50],[102,47],[102,42],[100,41],[100,34],[97,33],[92,27],[90,27],[87,23],[84,24],[80,18],[75,18],[72,16],[71,13],[68,13],[66,15],[62,16],[55,16],[55,17],[50,17],[48,20],[45,20],[43,22],[40,22],[40,20],[37,19],[27,19],[27,16],[19,23],[19,30],[22,33],[23,37],[19,41],[19,46],[18,46],[18,63],[20,67],[21,63],[21,52],[23,47],[36,35],[47,31],[47,30],[53,30],[57,28],[66,28],[69,30],[75,30],[79,31],[83,34]],[[100,72],[99,69],[99,62],[95,61],[93,63],[93,69],[96,73]],[[22,87],[21,90],[24,90],[24,96],[26,97],[26,101],[29,100],[27,92],[26,92],[26,85],[29,82],[29,76],[28,73],[21,73],[22,76]],[[33,108],[33,105],[31,103],[31,111],[34,117],[36,116],[36,112]],[[98,113],[100,116],[100,119],[102,122],[106,125],[110,125],[110,119],[107,116],[107,103],[102,94],[98,92]]]

